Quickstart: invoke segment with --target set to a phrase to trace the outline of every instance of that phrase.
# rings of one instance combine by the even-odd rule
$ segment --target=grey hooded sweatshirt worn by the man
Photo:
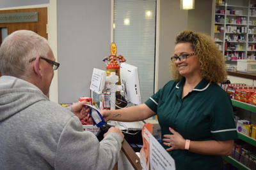
[[[113,169],[121,144],[115,132],[99,142],[28,81],[0,77],[0,169]]]

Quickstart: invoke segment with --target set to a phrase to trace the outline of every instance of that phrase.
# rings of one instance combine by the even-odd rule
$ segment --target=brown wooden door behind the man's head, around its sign
[[[23,13],[23,12],[38,12],[37,22],[12,22],[12,23],[0,23],[0,28],[7,28],[7,34],[12,32],[26,29],[34,31],[40,36],[48,39],[47,37],[47,8],[28,8],[28,9],[17,9],[17,10],[0,10],[0,13]],[[1,31],[0,31],[1,34]],[[0,38],[2,35],[0,35]],[[1,45],[2,41],[0,42]],[[1,76],[1,72],[0,72]]]

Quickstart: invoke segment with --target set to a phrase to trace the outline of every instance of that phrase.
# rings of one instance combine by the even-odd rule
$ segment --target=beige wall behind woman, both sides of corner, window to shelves
[[[173,54],[175,36],[185,29],[211,35],[213,1],[196,0],[194,10],[180,10],[180,1],[160,0],[156,91],[171,80],[169,62]]]

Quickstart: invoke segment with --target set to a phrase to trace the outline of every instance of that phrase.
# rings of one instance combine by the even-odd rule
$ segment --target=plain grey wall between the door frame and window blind
[[[93,68],[106,69],[110,53],[111,0],[57,1],[59,103],[90,97]]]

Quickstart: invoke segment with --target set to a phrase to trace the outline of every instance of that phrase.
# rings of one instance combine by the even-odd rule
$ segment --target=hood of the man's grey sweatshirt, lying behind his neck
[[[0,122],[38,101],[48,97],[28,81],[13,77],[0,77]]]

